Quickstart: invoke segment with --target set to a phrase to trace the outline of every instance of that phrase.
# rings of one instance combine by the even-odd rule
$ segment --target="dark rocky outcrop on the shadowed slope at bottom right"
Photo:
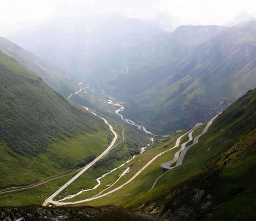
[[[190,181],[170,192],[136,208],[136,211],[153,214],[165,221],[196,220],[206,217],[211,220],[212,184],[215,178]],[[209,217],[208,217],[209,216]]]

